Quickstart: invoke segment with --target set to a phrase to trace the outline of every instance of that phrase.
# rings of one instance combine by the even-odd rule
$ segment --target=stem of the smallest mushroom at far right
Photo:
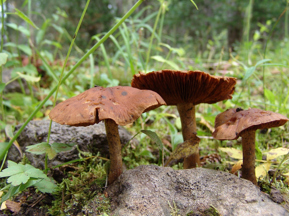
[[[255,174],[255,138],[256,131],[244,130],[242,132],[243,164],[242,178],[257,185]]]

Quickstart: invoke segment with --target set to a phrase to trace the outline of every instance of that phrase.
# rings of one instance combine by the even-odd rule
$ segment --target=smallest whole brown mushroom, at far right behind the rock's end
[[[255,175],[256,130],[284,125],[289,119],[279,113],[261,109],[228,109],[216,116],[214,139],[234,140],[242,137],[242,178],[257,185]]]

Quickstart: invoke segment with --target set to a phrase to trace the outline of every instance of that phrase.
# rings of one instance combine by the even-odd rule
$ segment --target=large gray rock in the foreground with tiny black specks
[[[223,216],[289,215],[250,181],[222,171],[194,168],[173,170],[155,165],[127,170],[106,189],[115,215],[178,215],[214,206]]]

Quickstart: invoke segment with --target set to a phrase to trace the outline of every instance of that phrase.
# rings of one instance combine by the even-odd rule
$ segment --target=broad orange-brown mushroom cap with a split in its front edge
[[[56,105],[49,118],[60,124],[88,126],[105,119],[118,125],[134,122],[144,112],[166,105],[157,93],[130,86],[90,88]]]

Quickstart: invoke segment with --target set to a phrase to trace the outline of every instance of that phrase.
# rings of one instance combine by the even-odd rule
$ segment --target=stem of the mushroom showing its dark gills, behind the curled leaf
[[[184,141],[192,139],[197,133],[195,105],[193,103],[179,103],[177,109],[181,118],[181,128]],[[200,166],[199,149],[187,158],[184,158],[184,169]]]

